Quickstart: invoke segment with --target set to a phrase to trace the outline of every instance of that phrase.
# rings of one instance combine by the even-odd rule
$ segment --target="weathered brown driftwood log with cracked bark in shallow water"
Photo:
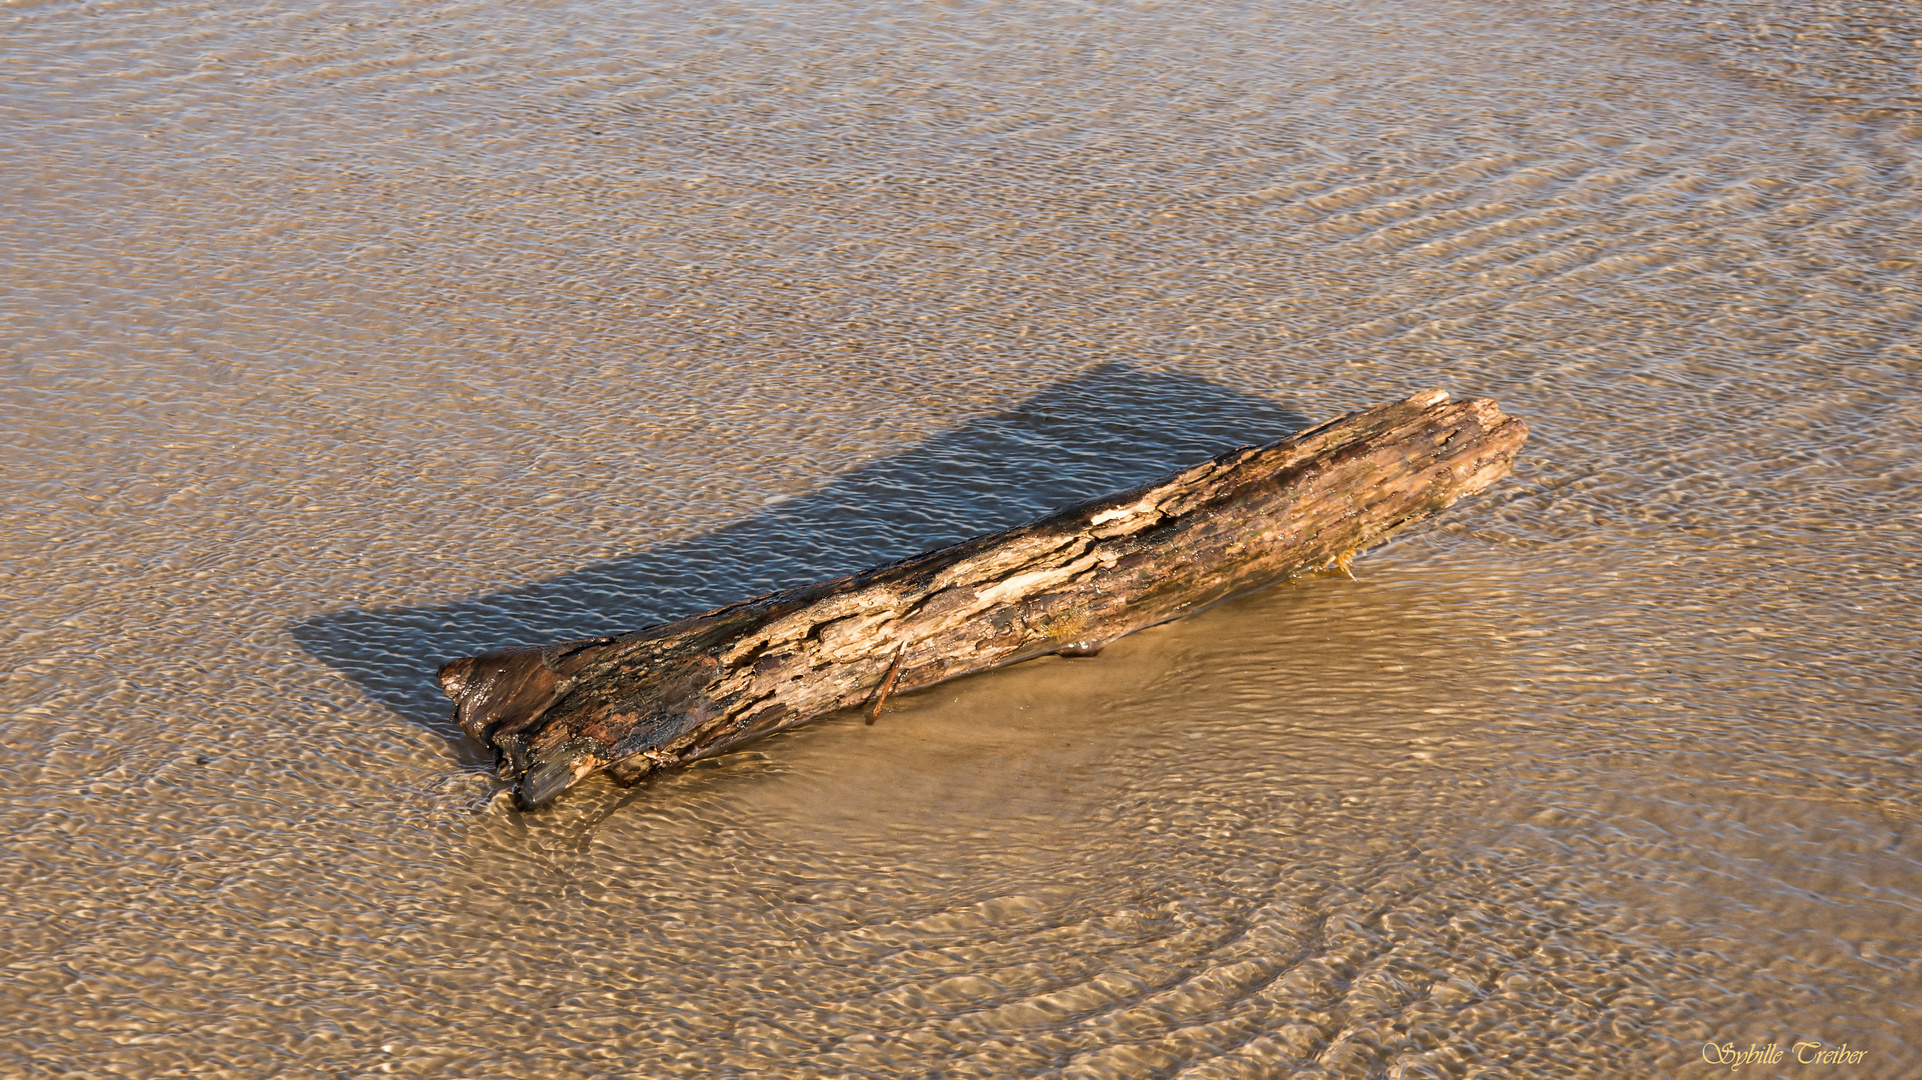
[[[1338,567],[1509,473],[1528,427],[1442,390],[844,578],[440,669],[523,805],[826,713],[1107,642]]]

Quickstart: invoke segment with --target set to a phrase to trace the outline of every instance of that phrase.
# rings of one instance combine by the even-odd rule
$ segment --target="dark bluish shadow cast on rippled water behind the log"
[[[442,661],[632,630],[859,571],[1305,425],[1267,398],[1109,363],[703,536],[473,600],[334,611],[292,632],[381,703],[465,746],[432,680]]]

